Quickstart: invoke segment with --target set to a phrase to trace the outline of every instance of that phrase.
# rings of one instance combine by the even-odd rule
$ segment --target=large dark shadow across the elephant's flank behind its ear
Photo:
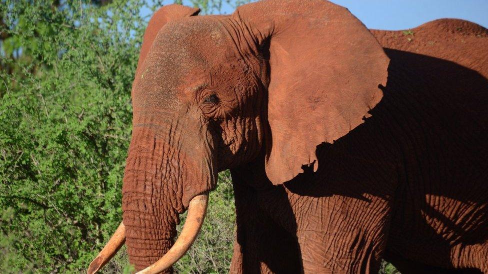
[[[391,59],[388,83],[372,117],[333,144],[317,146],[318,170],[303,167],[284,186],[300,197],[386,200],[384,255],[447,271],[458,263],[452,262],[459,255],[451,254],[452,246],[488,240],[488,223],[482,221],[488,218],[488,80],[451,61],[385,52]],[[293,224],[286,192],[277,188],[268,191],[279,202],[260,201],[259,207],[292,237],[299,224]],[[280,214],[272,214],[278,204]],[[300,254],[298,243],[293,245]]]

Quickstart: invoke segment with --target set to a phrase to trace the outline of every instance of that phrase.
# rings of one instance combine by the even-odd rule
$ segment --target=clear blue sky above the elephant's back
[[[331,0],[347,7],[368,28],[407,29],[438,18],[460,18],[488,28],[488,0]],[[165,0],[170,3],[172,0]],[[183,0],[183,3],[189,2]],[[234,8],[222,1],[222,12]],[[189,4],[191,5],[191,4]],[[145,12],[144,12],[145,13]]]

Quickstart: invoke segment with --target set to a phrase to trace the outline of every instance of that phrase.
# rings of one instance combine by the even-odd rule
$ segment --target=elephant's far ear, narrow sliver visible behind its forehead
[[[160,7],[152,15],[147,27],[145,28],[144,37],[142,39],[142,46],[140,47],[139,61],[137,62],[137,69],[135,71],[135,79],[138,79],[139,69],[144,62],[152,42],[156,38],[156,34],[167,22],[177,20],[183,17],[197,15],[200,12],[199,8],[184,6],[180,4],[169,4]]]

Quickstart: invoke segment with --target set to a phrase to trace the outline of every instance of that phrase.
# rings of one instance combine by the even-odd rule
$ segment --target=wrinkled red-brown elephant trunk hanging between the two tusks
[[[180,167],[172,152],[147,130],[134,130],[123,177],[122,222],[129,262],[137,271],[161,258],[176,236],[176,211],[182,210],[176,181],[182,178],[176,178]]]

